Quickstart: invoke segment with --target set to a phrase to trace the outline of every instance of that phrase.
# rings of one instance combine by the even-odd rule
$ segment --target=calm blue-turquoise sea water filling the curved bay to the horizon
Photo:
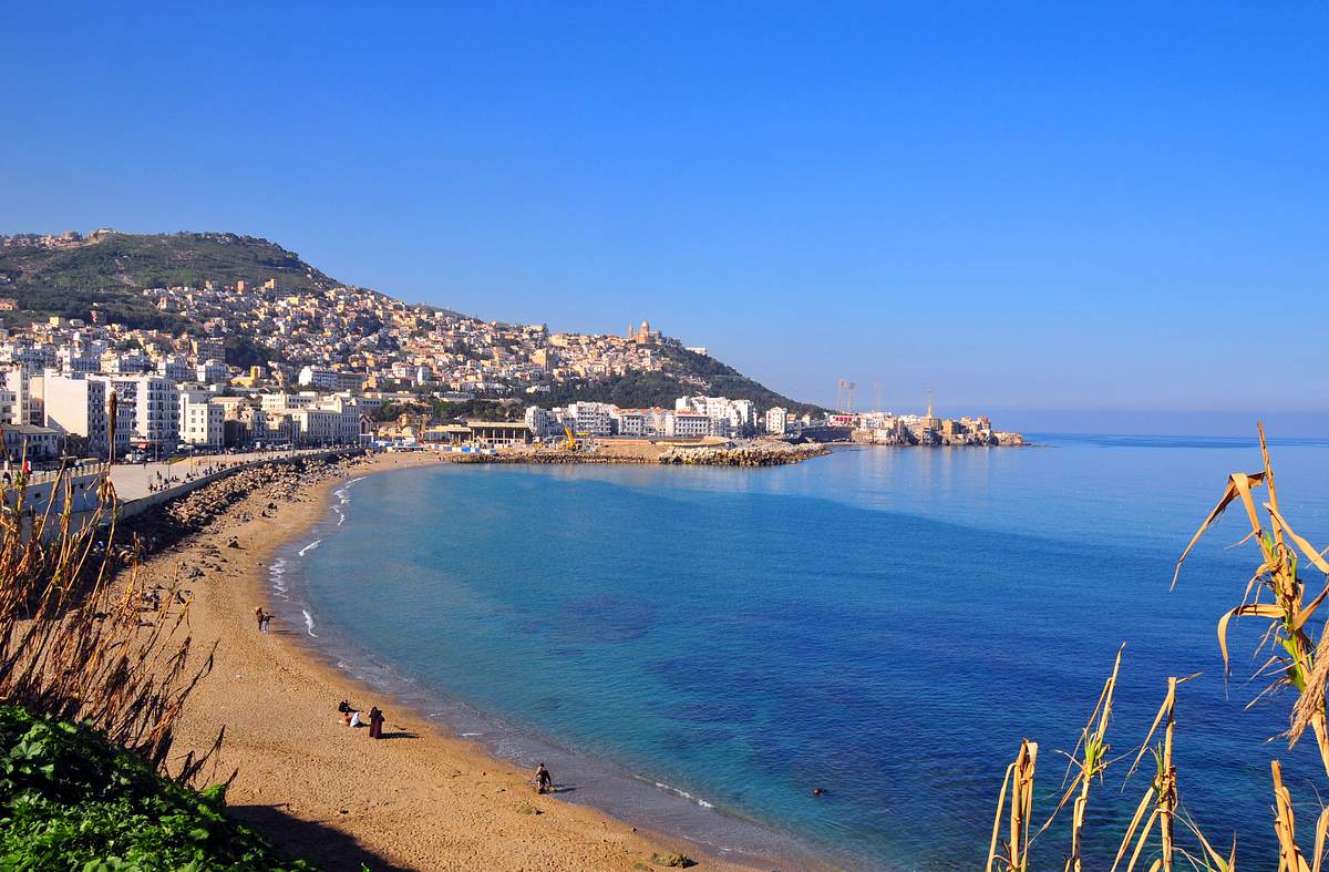
[[[343,488],[274,582],[318,650],[522,766],[546,759],[567,799],[783,867],[979,868],[1019,739],[1041,743],[1046,812],[1054,750],[1126,642],[1114,754],[1168,675],[1203,673],[1177,703],[1181,800],[1272,868],[1269,760],[1306,827],[1329,784],[1310,742],[1264,742],[1289,699],[1243,711],[1255,623],[1221,678],[1215,622],[1259,562],[1225,549],[1239,512],[1168,592],[1256,445],[1041,439],[775,469],[389,472]],[[1288,516],[1329,545],[1329,444],[1273,453]],[[1088,868],[1148,784],[1123,794],[1127,763],[1094,796]],[[1065,849],[1054,827],[1035,856]]]

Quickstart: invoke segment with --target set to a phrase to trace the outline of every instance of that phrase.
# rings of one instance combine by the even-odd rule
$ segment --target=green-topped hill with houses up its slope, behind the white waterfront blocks
[[[276,279],[276,292],[263,291]],[[243,294],[233,292],[243,280]],[[198,292],[206,283],[215,291]],[[144,288],[195,288],[145,295]],[[363,366],[365,355],[384,360],[411,360],[447,352],[488,366],[513,355],[530,359],[548,348],[548,334],[532,339],[521,326],[484,322],[436,306],[403,306],[368,288],[334,291],[342,284],[306,263],[292,251],[258,237],[230,233],[128,234],[98,230],[82,237],[0,237],[0,298],[12,298],[15,311],[0,311],[5,326],[24,326],[51,315],[88,319],[96,307],[102,324],[124,324],[141,331],[173,335],[206,332],[205,322],[223,320],[221,334],[227,362],[234,366],[290,366],[306,363],[348,368]],[[223,299],[217,294],[227,294]],[[340,295],[340,296],[339,296]],[[290,296],[306,298],[292,332],[291,311],[279,331],[271,310]],[[332,298],[338,298],[334,300]],[[266,307],[266,308],[264,308]],[[439,318],[455,338],[431,344]],[[524,332],[525,331],[525,332]],[[477,334],[480,338],[477,347]],[[606,338],[598,338],[606,339]],[[601,400],[625,407],[664,405],[686,393],[723,395],[752,400],[759,408],[784,405],[796,413],[819,411],[748,379],[714,358],[687,351],[676,340],[661,338],[653,346],[657,362],[649,367],[593,367],[590,371],[621,372],[583,378],[585,368],[569,367],[546,378],[533,399],[552,405],[571,400]],[[453,360],[461,366],[457,360]],[[635,366],[635,364],[633,364]],[[447,383],[445,378],[439,379]],[[481,388],[480,396],[526,397],[530,382],[508,382]],[[469,389],[469,388],[468,388]]]

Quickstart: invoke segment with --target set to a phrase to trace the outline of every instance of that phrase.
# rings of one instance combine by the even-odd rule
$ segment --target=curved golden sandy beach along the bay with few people
[[[328,510],[330,490],[348,475],[424,463],[437,461],[377,456],[278,501],[268,517],[271,497],[255,492],[145,560],[149,584],[169,584],[177,573],[187,580],[195,645],[218,641],[211,675],[181,723],[177,754],[206,748],[225,726],[207,779],[237,771],[229,792],[234,814],[291,855],[328,869],[653,869],[664,868],[655,855],[674,852],[696,860],[694,868],[751,868],[538,796],[530,772],[443,735],[322,665],[300,646],[296,627],[274,623],[271,633],[258,631],[254,609],[268,606],[264,566],[279,545]],[[227,546],[231,537],[239,548]],[[383,708],[385,740],[343,726],[340,699]]]

